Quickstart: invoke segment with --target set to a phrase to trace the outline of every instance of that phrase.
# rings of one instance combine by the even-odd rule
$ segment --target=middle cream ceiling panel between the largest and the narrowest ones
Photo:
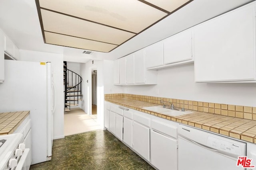
[[[120,45],[135,34],[41,9],[44,31]],[[114,38],[113,38],[114,37]]]

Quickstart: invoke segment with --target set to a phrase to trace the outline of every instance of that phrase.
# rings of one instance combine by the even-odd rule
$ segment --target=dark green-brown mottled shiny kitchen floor
[[[53,141],[52,160],[30,170],[154,170],[109,131],[90,131]]]

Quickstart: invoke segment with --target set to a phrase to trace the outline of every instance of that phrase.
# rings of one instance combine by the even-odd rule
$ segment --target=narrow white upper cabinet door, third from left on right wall
[[[130,54],[126,59],[126,84],[134,84],[134,57]]]

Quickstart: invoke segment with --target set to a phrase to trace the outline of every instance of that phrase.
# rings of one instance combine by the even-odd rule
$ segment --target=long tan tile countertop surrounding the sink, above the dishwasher
[[[251,143],[256,143],[256,121],[254,120],[194,110],[189,110],[193,112],[190,114],[171,117],[164,113],[157,113],[142,109],[143,107],[159,106],[159,104],[125,98],[105,99],[105,101],[162,117],[164,119],[176,121]]]

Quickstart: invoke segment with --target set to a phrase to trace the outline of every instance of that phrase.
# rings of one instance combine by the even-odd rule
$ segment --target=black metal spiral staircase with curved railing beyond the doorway
[[[78,106],[82,100],[82,77],[67,68],[67,62],[63,62],[64,79],[64,111],[70,111],[72,106]]]

